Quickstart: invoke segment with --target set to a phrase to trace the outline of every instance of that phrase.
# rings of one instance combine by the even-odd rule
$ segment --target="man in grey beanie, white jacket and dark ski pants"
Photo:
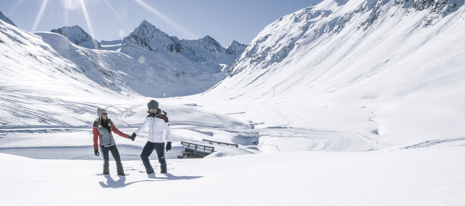
[[[148,141],[142,149],[140,154],[140,159],[146,167],[147,174],[154,174],[152,165],[148,157],[152,154],[153,150],[157,153],[158,161],[160,162],[160,173],[166,173],[166,160],[165,160],[165,133],[166,133],[166,151],[171,149],[171,129],[170,123],[168,122],[168,116],[166,112],[158,108],[159,103],[155,100],[150,100],[147,103],[149,115],[146,117],[146,120],[139,129],[137,129],[133,135],[129,138],[134,140],[134,138],[139,135],[147,126],[148,130]]]

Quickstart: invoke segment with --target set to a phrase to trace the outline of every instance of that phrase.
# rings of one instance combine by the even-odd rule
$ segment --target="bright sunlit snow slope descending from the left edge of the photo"
[[[94,86],[85,69],[61,58],[39,36],[4,21],[0,21],[0,62],[2,91],[73,96],[109,94]]]

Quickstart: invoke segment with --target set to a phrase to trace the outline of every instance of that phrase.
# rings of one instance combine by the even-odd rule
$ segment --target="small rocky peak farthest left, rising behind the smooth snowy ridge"
[[[58,29],[52,29],[50,32],[61,34],[78,46],[88,49],[102,49],[102,46],[97,40],[93,39],[87,32],[77,25],[73,27],[63,26]]]

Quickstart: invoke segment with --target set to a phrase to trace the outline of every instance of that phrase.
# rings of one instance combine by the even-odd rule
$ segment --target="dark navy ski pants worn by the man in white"
[[[158,161],[160,162],[160,173],[166,173],[165,142],[147,142],[140,154],[140,159],[142,159],[142,163],[144,163],[144,167],[146,167],[147,174],[155,173],[148,159],[153,150],[157,153]]]

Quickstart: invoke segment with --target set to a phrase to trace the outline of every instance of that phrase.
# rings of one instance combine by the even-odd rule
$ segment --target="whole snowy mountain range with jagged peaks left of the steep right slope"
[[[0,48],[5,51],[0,55],[5,62],[2,84],[31,93],[66,94],[76,89],[126,97],[192,95],[217,84],[246,48],[233,42],[236,46],[226,49],[208,36],[206,41],[194,40],[199,44],[193,48],[186,43],[189,40],[170,37],[145,20],[123,39],[98,42],[80,26],[29,33],[3,14],[0,17]],[[219,47],[206,52],[203,45]],[[15,71],[31,75],[31,80],[11,81],[28,76]],[[31,83],[37,88],[29,87]]]

